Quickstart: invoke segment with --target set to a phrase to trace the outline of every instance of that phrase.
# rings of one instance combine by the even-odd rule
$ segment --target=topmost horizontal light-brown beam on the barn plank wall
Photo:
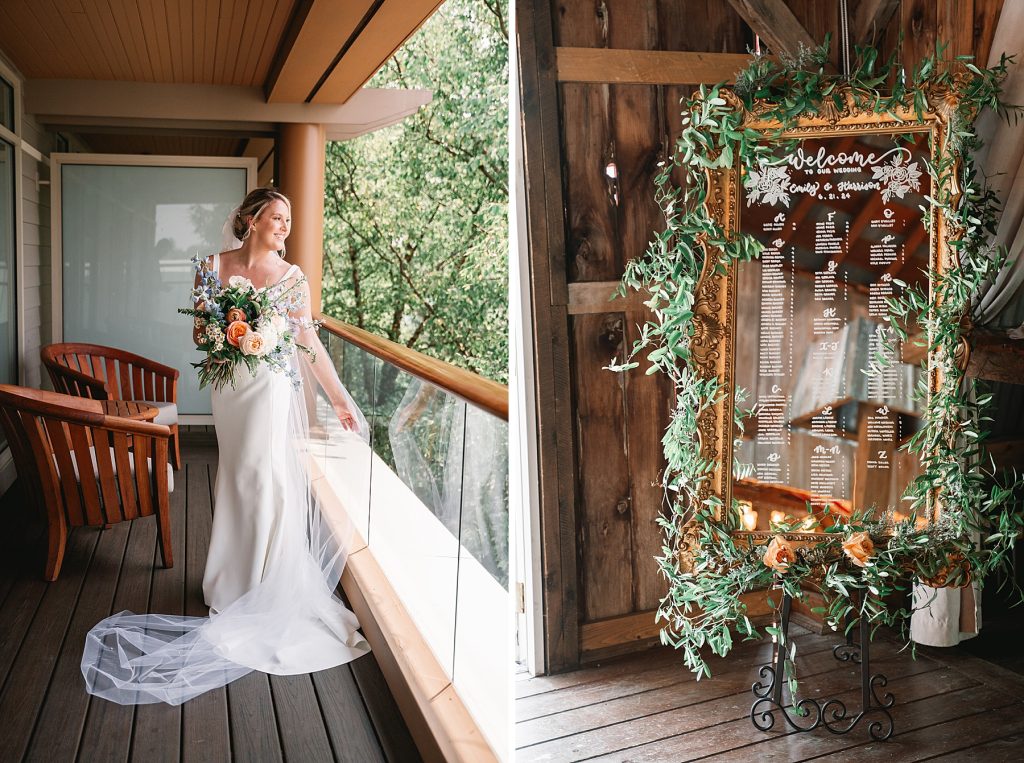
[[[746,53],[681,50],[555,48],[559,82],[616,85],[700,85],[732,82],[751,61]]]

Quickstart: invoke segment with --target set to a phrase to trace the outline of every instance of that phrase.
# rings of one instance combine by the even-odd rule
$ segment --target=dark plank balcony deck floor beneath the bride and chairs
[[[252,673],[178,708],[85,692],[79,662],[97,621],[123,609],[206,614],[211,428],[183,432],[182,456],[171,569],[160,565],[150,517],[75,531],[59,580],[46,583],[38,521],[18,506],[16,485],[0,502],[0,761],[419,760],[373,654],[312,675]]]

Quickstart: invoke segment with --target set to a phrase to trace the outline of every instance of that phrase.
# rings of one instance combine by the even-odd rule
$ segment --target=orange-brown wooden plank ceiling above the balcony
[[[41,80],[221,85],[258,88],[266,103],[337,105],[441,1],[0,0],[0,54],[30,93]],[[76,134],[103,152],[237,155],[245,145],[238,133],[115,132]]]

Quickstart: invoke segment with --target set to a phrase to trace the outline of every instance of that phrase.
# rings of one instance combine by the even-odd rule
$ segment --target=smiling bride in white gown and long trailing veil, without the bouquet
[[[253,670],[310,673],[370,649],[334,593],[347,519],[322,511],[304,461],[309,422],[327,408],[317,405],[323,398],[346,436],[367,438],[368,426],[316,337],[305,278],[279,256],[290,225],[288,199],[257,188],[224,226],[233,248],[206,264],[208,278],[224,284],[244,279],[299,295],[290,323],[298,344],[314,349],[311,359],[293,354],[291,375],[262,363],[251,374],[240,364],[233,387],[212,391],[219,457],[203,579],[210,617],[125,611],[103,620],[82,656],[89,693],[123,705],[179,705]]]

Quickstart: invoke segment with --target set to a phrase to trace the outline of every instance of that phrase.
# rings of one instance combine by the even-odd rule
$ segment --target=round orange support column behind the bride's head
[[[278,186],[292,200],[288,260],[301,267],[309,281],[313,312],[317,312],[322,305],[326,162],[324,125],[282,125],[278,137]]]

